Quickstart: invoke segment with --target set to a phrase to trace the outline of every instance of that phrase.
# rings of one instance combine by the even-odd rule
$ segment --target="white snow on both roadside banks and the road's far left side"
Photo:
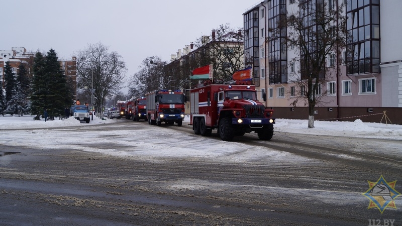
[[[185,117],[185,121],[189,121],[188,116]],[[34,121],[32,116],[0,116],[0,144],[46,149],[77,149],[124,157],[135,156],[149,160],[152,159],[153,161],[164,157],[193,157],[234,162],[247,162],[257,159],[269,159],[269,161],[276,162],[310,161],[300,156],[270,150],[265,147],[256,148],[255,146],[239,142],[234,146],[231,142],[194,136],[193,134],[189,135],[171,130],[168,127],[148,127],[147,124],[132,122],[133,124],[130,126],[141,127],[140,130],[133,130],[133,128],[128,129],[117,125],[114,126],[116,122],[118,120],[102,120],[96,117],[89,124],[86,124],[80,123],[72,117],[67,120],[44,122],[43,119],[41,121]],[[108,127],[111,129],[105,131],[94,130],[90,133],[69,129],[69,127],[91,127],[98,124],[109,124]],[[363,123],[361,120],[356,120],[355,122],[316,121],[316,128],[314,129],[308,129],[307,125],[307,120],[277,119],[274,130],[300,134],[380,138],[402,141],[401,125]],[[184,126],[187,125],[183,123]],[[43,130],[44,128],[61,129],[54,131]],[[275,136],[277,135],[274,135],[274,138]],[[79,146],[75,145],[77,137],[81,138]],[[109,137],[113,137],[113,139],[108,139]],[[85,145],[83,146],[82,144]],[[102,148],[95,148],[99,147],[99,144],[101,144]],[[166,144],[172,144],[172,146],[167,149]],[[119,146],[119,148],[114,148],[116,146]],[[402,147],[402,142],[400,147]],[[400,150],[402,148],[400,147],[393,145],[389,148],[384,147],[384,149],[391,149],[397,154],[402,154]]]

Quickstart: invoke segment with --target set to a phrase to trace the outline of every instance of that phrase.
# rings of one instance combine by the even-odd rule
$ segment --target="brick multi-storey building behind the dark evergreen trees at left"
[[[0,78],[2,81],[2,87],[5,86],[4,67],[6,62],[10,62],[10,66],[15,73],[18,71],[18,67],[21,63],[26,64],[28,68],[29,76],[33,76],[32,66],[34,63],[35,53],[27,52],[24,47],[13,47],[12,50],[0,50]],[[64,71],[67,79],[72,82],[74,99],[77,97],[77,63],[76,57],[72,57],[71,60],[59,60],[60,66]]]

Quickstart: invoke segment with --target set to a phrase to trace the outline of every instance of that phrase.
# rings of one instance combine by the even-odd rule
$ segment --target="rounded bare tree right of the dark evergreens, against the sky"
[[[123,87],[126,63],[122,56],[117,52],[109,52],[109,48],[102,43],[89,44],[76,55],[77,88],[90,97],[93,86],[93,104],[99,112],[105,105],[106,98]]]

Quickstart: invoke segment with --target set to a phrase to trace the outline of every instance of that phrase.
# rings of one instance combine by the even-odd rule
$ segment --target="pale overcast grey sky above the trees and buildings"
[[[1,50],[53,48],[59,59],[98,42],[118,52],[130,77],[142,60],[170,54],[222,24],[243,28],[250,0],[13,0],[2,1]],[[126,90],[123,90],[126,92]]]

